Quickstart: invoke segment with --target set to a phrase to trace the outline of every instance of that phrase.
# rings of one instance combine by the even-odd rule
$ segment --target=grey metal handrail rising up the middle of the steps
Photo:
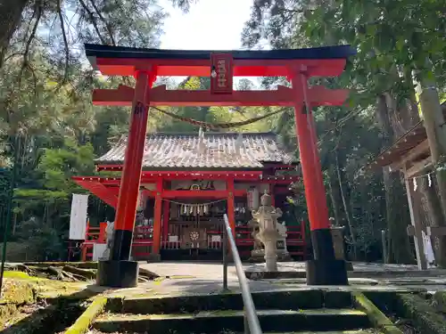
[[[234,258],[235,271],[238,277],[238,283],[240,285],[240,289],[242,289],[242,298],[244,300],[244,329],[245,333],[252,334],[262,334],[260,329],[259,318],[257,317],[257,313],[255,311],[255,305],[252,301],[252,295],[250,291],[250,287],[248,281],[246,280],[246,276],[244,275],[244,267],[242,265],[242,260],[240,259],[240,255],[238,254],[238,249],[235,245],[234,235],[232,235],[232,229],[229,225],[229,220],[227,219],[227,215],[224,216],[225,221],[225,231],[223,233],[223,284],[224,288],[227,289],[227,256],[226,256],[226,247],[225,244],[227,240],[229,240],[229,246],[231,248],[231,253]],[[225,236],[227,238],[225,238]],[[226,286],[225,286],[226,282]]]

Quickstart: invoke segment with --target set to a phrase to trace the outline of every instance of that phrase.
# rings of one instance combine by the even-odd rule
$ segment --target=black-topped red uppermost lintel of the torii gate
[[[270,51],[160,50],[85,45],[87,58],[103,75],[133,76],[136,69],[156,68],[157,76],[209,77],[212,53],[233,58],[235,77],[288,77],[289,68],[304,66],[309,77],[337,77],[356,52],[350,45]]]

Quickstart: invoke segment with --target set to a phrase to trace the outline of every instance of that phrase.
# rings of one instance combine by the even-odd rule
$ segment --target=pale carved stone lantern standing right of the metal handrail
[[[252,210],[252,217],[259,224],[255,235],[265,248],[265,262],[268,272],[277,272],[277,240],[281,235],[277,231],[277,218],[282,216],[280,208],[271,205],[271,196],[265,193],[260,198],[260,208]]]

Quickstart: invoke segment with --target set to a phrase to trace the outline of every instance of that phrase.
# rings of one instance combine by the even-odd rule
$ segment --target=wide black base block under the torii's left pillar
[[[101,287],[135,288],[139,266],[136,261],[99,261],[96,284]]]

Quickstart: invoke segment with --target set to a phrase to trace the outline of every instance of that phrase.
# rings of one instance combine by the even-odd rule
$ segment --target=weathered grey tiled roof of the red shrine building
[[[96,165],[120,165],[124,160],[127,137],[95,160]],[[145,141],[143,168],[261,168],[264,163],[291,163],[272,133],[149,134]]]

